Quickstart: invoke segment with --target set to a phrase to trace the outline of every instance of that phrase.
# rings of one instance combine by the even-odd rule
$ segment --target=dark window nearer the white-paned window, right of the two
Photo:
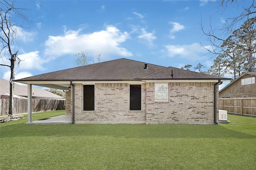
[[[130,85],[130,110],[141,110],[141,85]]]

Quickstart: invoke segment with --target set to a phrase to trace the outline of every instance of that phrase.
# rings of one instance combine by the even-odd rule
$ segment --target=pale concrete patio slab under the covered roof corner
[[[25,125],[71,124],[71,115],[60,115],[42,120],[27,122]]]

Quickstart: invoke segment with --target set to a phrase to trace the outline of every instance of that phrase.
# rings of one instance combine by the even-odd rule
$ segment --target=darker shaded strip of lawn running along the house
[[[131,124],[68,124],[24,125],[16,123],[2,126],[1,138],[6,137],[76,137],[112,136],[124,138],[235,138],[256,139],[221,125],[131,125]]]

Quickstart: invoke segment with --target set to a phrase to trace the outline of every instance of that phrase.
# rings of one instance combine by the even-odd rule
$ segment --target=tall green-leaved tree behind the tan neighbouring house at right
[[[236,29],[220,46],[221,54],[216,57],[208,74],[223,76],[233,74],[236,79],[243,72],[254,72],[256,53],[256,17],[250,18]]]

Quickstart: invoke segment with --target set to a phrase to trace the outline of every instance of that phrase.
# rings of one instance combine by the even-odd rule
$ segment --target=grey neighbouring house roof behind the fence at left
[[[10,82],[3,78],[0,78],[0,94],[10,95]],[[21,86],[14,83],[14,95],[16,96],[28,96],[28,87]],[[41,88],[32,87],[32,97],[34,98],[56,98],[61,99],[62,96],[58,96]]]

